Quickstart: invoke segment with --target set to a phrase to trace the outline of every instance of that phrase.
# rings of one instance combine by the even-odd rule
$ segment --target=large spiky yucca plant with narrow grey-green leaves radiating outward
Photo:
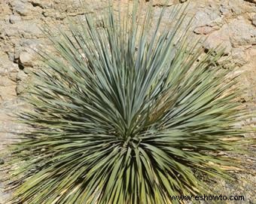
[[[237,169],[225,155],[240,149],[246,111],[223,52],[190,40],[184,7],[157,21],[142,11],[110,5],[57,38],[44,29],[56,54],[39,52],[26,94],[30,128],[7,164],[18,163],[11,203],[182,202],[170,196],[207,192]]]

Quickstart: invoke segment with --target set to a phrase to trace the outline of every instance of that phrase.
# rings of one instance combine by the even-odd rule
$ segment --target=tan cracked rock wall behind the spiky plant
[[[39,27],[45,22],[49,25],[65,24],[66,16],[97,12],[105,8],[107,2],[90,0],[81,8],[77,0],[0,1],[0,149],[12,139],[11,132],[20,129],[14,123],[12,114],[24,108],[18,96],[26,91],[29,71],[36,70],[38,66],[32,49],[46,42]],[[144,2],[148,4],[148,1]],[[154,9],[157,11],[163,7],[164,2],[153,1]],[[222,44],[226,47],[225,57],[236,65],[237,72],[243,72],[240,81],[246,92],[241,101],[255,109],[256,1],[170,0],[168,6],[172,8],[172,5],[184,2],[190,2],[188,16],[195,17],[192,26],[194,35],[207,37],[203,42],[206,50]],[[7,197],[8,193],[0,193],[0,203],[5,203]]]

